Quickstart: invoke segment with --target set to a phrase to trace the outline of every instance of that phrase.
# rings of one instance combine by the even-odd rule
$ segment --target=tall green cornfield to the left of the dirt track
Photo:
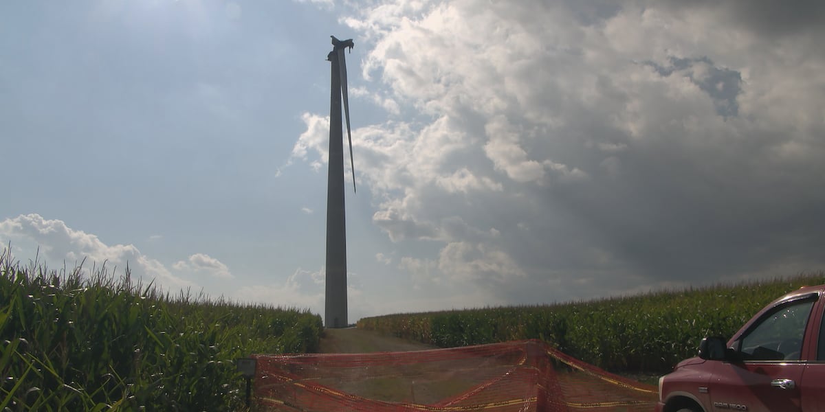
[[[0,255],[0,410],[242,410],[233,359],[318,348],[309,311]]]

